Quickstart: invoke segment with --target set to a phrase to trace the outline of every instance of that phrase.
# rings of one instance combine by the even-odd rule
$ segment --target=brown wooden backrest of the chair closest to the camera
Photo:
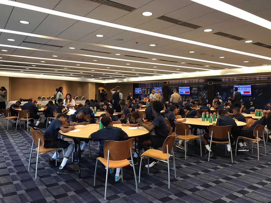
[[[132,149],[135,138],[126,141],[106,140],[104,142],[104,158],[107,159],[109,150],[109,160],[120,161],[131,157],[130,149]]]

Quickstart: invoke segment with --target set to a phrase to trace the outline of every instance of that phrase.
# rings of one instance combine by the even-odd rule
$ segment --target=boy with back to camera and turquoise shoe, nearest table
[[[98,141],[100,143],[99,157],[104,157],[104,142],[106,140],[125,141],[128,139],[128,135],[121,128],[113,127],[113,121],[108,115],[102,116],[101,123],[105,128],[92,133],[89,136],[89,139]],[[114,168],[110,168],[109,173],[113,174]],[[120,168],[117,168],[115,174],[115,182],[118,182],[119,180],[121,180]]]

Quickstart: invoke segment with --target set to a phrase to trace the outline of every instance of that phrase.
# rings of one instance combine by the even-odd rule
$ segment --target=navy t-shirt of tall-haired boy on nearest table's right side
[[[163,140],[167,138],[169,130],[162,115],[157,115],[151,125],[155,125],[154,132],[157,137]]]

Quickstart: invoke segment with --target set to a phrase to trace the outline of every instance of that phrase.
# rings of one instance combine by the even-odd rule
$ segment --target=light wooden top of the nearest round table
[[[141,135],[148,134],[149,131],[143,127],[129,127],[129,126],[122,126],[121,124],[113,124],[114,127],[121,128],[124,132],[128,134],[129,137],[138,137]],[[75,137],[75,138],[89,138],[89,135],[98,131],[100,125],[98,124],[89,124],[83,127],[75,126],[76,129],[81,129],[78,132],[67,132],[63,133],[61,130],[59,131],[60,134],[63,134],[68,137]],[[131,128],[131,129],[129,129]]]

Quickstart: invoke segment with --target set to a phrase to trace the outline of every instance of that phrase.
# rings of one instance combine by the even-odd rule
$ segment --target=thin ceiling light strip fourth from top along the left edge
[[[49,58],[40,58],[40,57],[30,57],[30,56],[20,56],[20,55],[11,55],[11,54],[0,54],[1,56],[10,56],[10,57],[21,57],[21,58],[31,58],[31,59],[41,59],[41,60],[51,60],[51,61],[62,61],[62,62],[70,62],[70,63],[83,63],[83,64],[91,64],[91,65],[98,65],[98,66],[112,66],[112,67],[120,67],[120,68],[129,68],[129,69],[141,69],[146,70],[146,68],[137,68],[137,67],[130,67],[130,66],[117,66],[111,64],[103,64],[103,63],[89,63],[89,62],[82,62],[82,61],[70,61],[70,60],[61,60],[61,59],[49,59]],[[181,66],[182,67],[182,66]],[[246,66],[245,66],[246,67]],[[79,68],[79,67],[77,67]],[[247,68],[247,67],[246,67]],[[93,69],[93,68],[92,68]],[[147,68],[148,70],[154,71],[161,71],[161,72],[174,72],[174,73],[185,73],[180,71],[171,71],[171,70],[160,70],[160,69],[151,69]],[[121,72],[121,70],[119,70]]]

